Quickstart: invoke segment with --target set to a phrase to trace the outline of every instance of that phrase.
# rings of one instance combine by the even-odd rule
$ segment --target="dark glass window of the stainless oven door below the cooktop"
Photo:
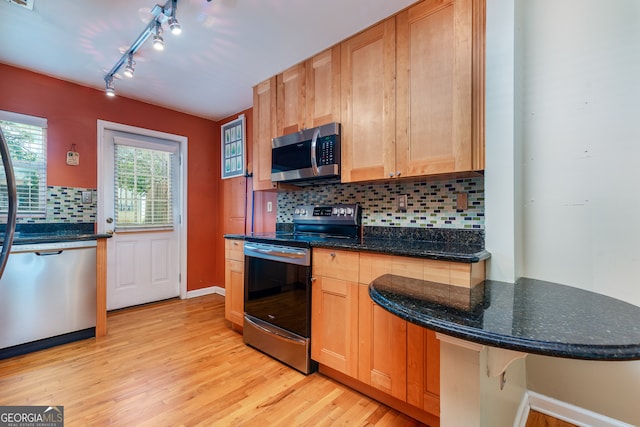
[[[245,257],[245,312],[310,338],[310,279],[309,266]]]

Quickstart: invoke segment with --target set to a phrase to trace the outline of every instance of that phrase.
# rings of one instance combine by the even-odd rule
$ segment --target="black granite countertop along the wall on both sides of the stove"
[[[256,238],[286,242],[290,229],[265,234],[226,234],[229,239]],[[442,261],[474,263],[490,258],[483,247],[484,235],[473,230],[364,227],[363,236],[354,239],[310,239],[311,247],[376,252]]]

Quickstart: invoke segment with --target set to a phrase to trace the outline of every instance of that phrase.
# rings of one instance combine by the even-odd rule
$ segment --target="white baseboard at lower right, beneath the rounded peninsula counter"
[[[524,427],[535,410],[581,427],[633,427],[631,424],[528,390],[520,403],[514,427]]]

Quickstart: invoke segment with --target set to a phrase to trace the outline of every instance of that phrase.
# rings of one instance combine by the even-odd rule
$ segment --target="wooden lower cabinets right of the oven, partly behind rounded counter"
[[[444,274],[448,279],[449,263],[425,261],[314,249],[311,358],[321,373],[436,426],[440,344],[435,333],[391,314],[369,297],[369,283],[382,274]]]

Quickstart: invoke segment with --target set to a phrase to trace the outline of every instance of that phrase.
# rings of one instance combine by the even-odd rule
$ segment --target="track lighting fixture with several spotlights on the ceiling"
[[[167,23],[171,34],[180,34],[182,28],[176,18],[176,9],[178,6],[178,0],[167,0],[164,6],[156,4],[151,9],[153,19],[142,30],[142,33],[131,44],[131,47],[120,57],[118,62],[111,68],[111,70],[104,76],[105,92],[108,96],[115,96],[116,91],[114,87],[114,76],[124,66],[123,74],[126,77],[133,77],[135,71],[136,62],[133,60],[133,55],[140,49],[144,42],[153,35],[153,47],[156,50],[164,49],[164,39],[162,38],[162,24]]]

